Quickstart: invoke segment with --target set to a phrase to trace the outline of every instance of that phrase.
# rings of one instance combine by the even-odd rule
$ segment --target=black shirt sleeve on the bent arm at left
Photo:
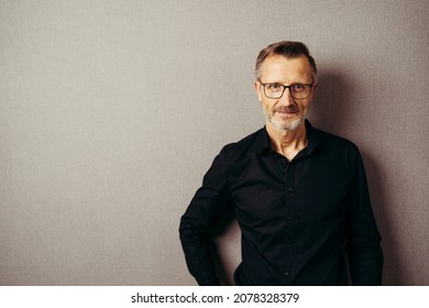
[[[229,199],[224,161],[222,150],[180,219],[186,264],[199,285],[220,285],[209,250],[209,233]]]

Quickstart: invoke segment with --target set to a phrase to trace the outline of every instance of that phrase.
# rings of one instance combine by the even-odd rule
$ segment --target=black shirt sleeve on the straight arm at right
[[[359,151],[354,170],[355,178],[348,199],[350,274],[352,285],[376,286],[382,284],[382,238],[371,207],[365,169]]]

